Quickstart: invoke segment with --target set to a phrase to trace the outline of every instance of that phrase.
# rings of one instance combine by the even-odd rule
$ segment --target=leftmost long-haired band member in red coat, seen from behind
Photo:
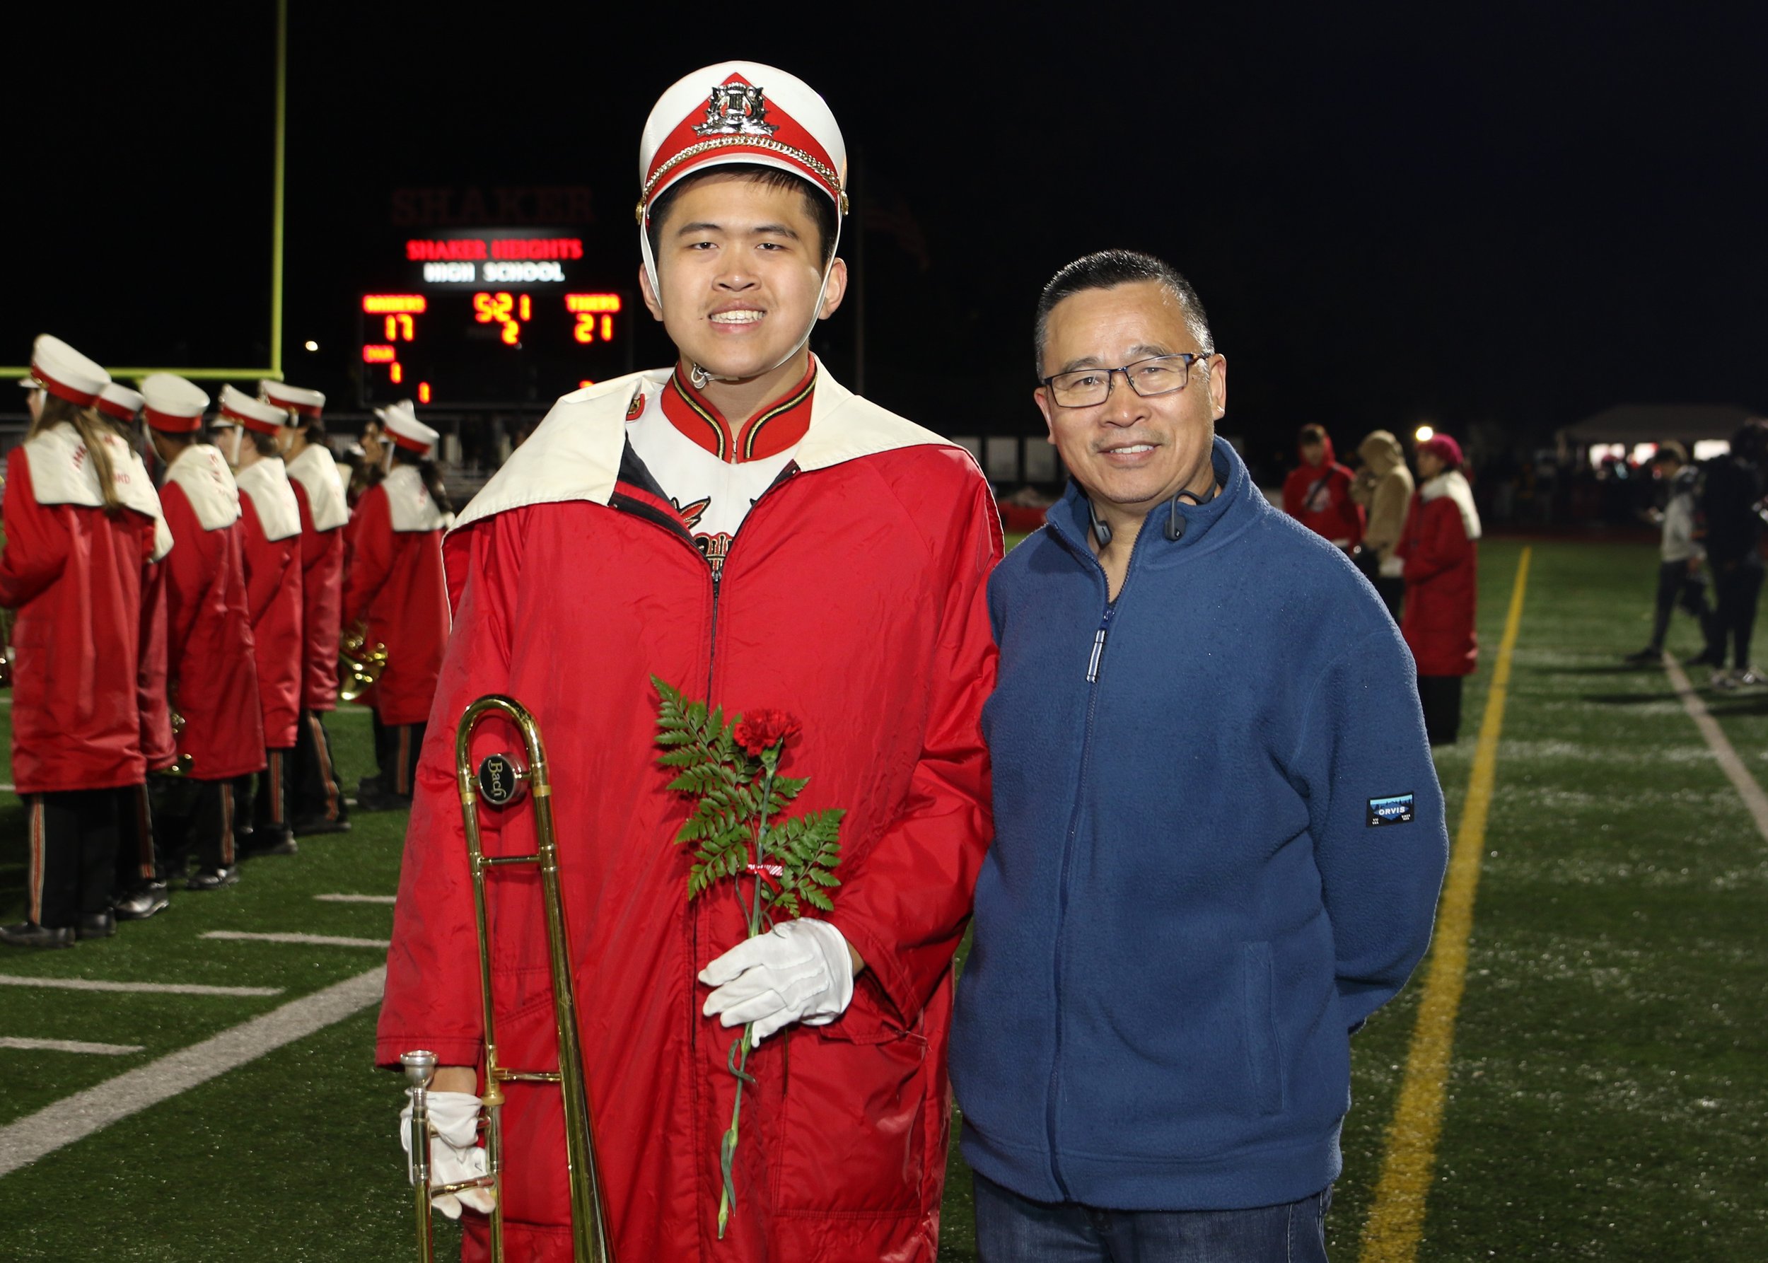
[[[12,646],[12,780],[30,821],[27,916],[11,946],[115,934],[118,805],[145,775],[141,582],[159,499],[95,412],[110,375],[48,334],[32,348],[30,435],[7,456],[0,605]],[[159,536],[164,541],[164,536]]]

